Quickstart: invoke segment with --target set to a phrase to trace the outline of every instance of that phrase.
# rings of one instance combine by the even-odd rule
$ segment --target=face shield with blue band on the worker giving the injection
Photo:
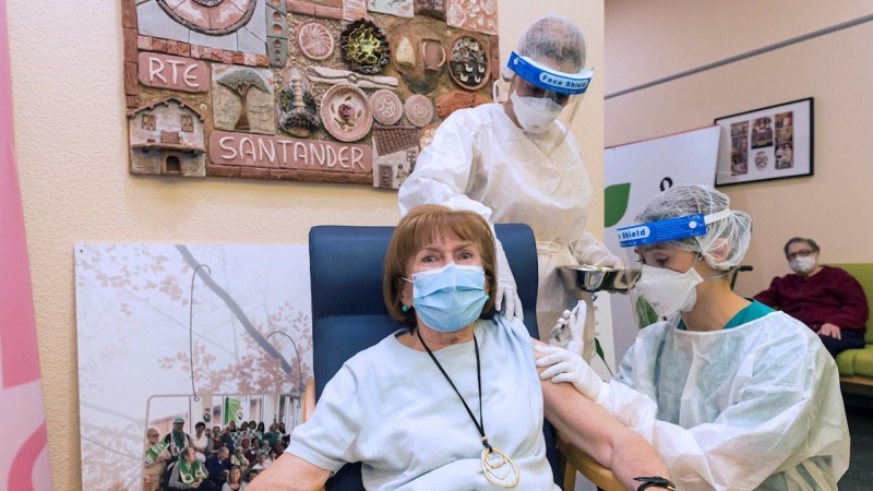
[[[629,296],[637,327],[675,312],[690,311],[696,301],[695,287],[727,274],[704,278],[694,265],[702,258],[701,239],[707,235],[707,225],[731,215],[730,209],[725,209],[619,228],[622,260],[631,270],[627,277],[634,278]],[[677,255],[685,255],[683,251],[697,254],[691,266],[685,271],[671,268]]]

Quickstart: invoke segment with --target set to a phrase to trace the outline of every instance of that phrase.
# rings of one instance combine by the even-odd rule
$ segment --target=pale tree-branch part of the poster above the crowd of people
[[[216,427],[241,445],[300,422],[307,246],[79,244],[75,296],[82,489],[151,490]]]

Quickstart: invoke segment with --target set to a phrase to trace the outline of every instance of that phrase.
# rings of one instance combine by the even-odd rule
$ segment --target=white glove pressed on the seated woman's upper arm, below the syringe
[[[545,355],[537,360],[537,367],[548,367],[540,373],[540,379],[551,379],[555,384],[570,382],[582,395],[599,405],[607,400],[609,384],[600,380],[581,356],[554,346],[537,345],[534,349]]]

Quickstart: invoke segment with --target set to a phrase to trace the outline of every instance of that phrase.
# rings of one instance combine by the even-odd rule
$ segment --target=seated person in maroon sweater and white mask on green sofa
[[[818,244],[812,239],[789,240],[785,256],[794,274],[773,278],[755,300],[806,324],[834,357],[863,348],[870,310],[858,280],[839,267],[818,264]]]

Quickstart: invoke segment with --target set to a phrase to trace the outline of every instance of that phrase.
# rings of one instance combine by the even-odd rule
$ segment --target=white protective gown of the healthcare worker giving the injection
[[[708,333],[678,321],[639,332],[602,406],[658,450],[679,489],[836,490],[849,428],[818,336],[782,312]]]

